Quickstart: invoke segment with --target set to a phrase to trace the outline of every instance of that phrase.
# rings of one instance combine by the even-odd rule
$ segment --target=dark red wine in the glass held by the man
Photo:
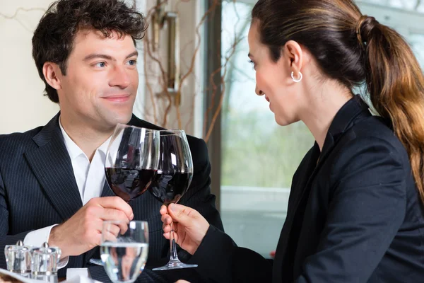
[[[146,192],[155,177],[155,170],[105,168],[106,180],[115,195],[129,202]]]

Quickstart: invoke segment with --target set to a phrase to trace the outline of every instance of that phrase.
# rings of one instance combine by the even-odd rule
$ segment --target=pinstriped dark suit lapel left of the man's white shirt
[[[59,114],[33,140],[39,147],[25,152],[25,158],[54,209],[62,219],[69,219],[83,203],[59,128]]]

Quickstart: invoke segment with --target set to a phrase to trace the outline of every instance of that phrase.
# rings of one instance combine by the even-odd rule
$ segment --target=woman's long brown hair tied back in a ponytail
[[[399,33],[363,16],[351,0],[259,0],[252,10],[275,62],[288,40],[313,54],[323,74],[367,86],[372,106],[404,144],[424,202],[424,76]]]

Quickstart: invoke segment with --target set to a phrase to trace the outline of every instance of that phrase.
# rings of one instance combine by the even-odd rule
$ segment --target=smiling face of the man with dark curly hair
[[[139,84],[136,59],[131,36],[105,37],[98,30],[79,30],[66,76],[58,72],[61,119],[98,130],[129,122]]]

